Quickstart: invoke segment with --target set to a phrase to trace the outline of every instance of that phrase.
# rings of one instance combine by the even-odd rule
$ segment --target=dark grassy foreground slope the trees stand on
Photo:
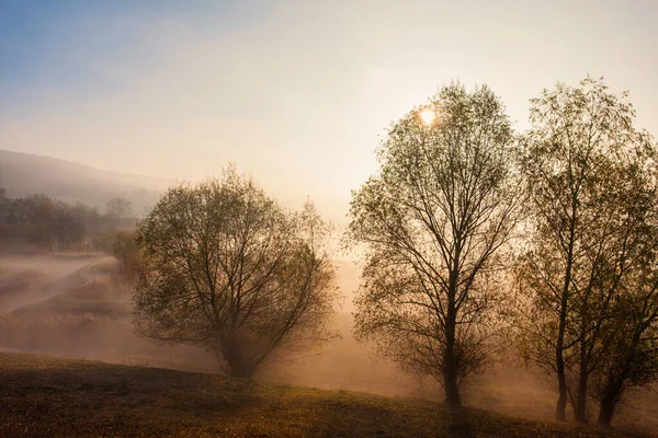
[[[0,354],[0,436],[621,437],[344,391]]]

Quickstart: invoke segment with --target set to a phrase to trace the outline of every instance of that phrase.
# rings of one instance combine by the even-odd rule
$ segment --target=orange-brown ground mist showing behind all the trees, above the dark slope
[[[129,298],[114,287],[113,257],[89,254],[10,255],[0,258],[0,350],[77,357],[116,364],[223,372],[216,358],[191,346],[163,346],[138,337],[131,322]],[[322,348],[283,355],[263,367],[257,379],[396,397],[441,401],[431,379],[401,371],[377,357],[351,333],[351,300],[359,266],[338,262],[344,302],[333,319],[341,337]],[[338,307],[338,306],[337,306]],[[465,403],[500,413],[552,419],[552,381],[523,366],[513,350],[465,387]],[[656,394],[640,391],[634,407],[623,408],[622,426],[649,418]],[[654,423],[651,423],[654,422]]]

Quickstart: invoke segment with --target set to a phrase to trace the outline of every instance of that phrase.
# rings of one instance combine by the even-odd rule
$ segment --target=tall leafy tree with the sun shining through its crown
[[[452,84],[395,123],[377,155],[350,209],[348,237],[366,251],[355,334],[461,405],[461,382],[491,353],[518,221],[509,119],[488,88]]]

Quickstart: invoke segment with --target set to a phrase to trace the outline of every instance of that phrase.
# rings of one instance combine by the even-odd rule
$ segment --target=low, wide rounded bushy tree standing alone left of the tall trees
[[[311,204],[288,214],[232,168],[171,188],[138,228],[137,328],[201,346],[232,376],[251,377],[276,353],[331,335],[328,238]]]

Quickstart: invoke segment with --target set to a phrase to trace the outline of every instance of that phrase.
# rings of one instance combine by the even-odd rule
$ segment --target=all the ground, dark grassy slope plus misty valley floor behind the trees
[[[134,334],[107,257],[14,256],[0,266],[0,351],[38,355],[0,353],[0,437],[658,436],[658,393],[634,393],[616,433],[559,425],[549,422],[551,382],[511,360],[466,388],[468,408],[446,411],[435,384],[354,341],[349,307],[334,321],[342,337],[322,350],[282,358],[259,383],[227,380],[203,350]],[[350,290],[355,275],[339,276]]]

